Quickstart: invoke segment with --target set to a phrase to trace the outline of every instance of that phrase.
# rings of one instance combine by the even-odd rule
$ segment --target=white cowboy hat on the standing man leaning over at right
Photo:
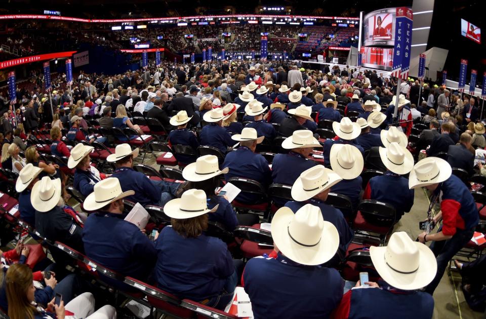
[[[415,164],[409,175],[409,188],[442,183],[451,177],[451,165],[438,157],[426,157]]]

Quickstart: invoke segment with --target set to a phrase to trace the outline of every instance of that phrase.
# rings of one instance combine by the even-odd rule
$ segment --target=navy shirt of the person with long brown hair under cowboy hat
[[[227,245],[216,237],[185,238],[168,226],[155,248],[157,286],[179,298],[202,301],[219,295],[234,272]]]

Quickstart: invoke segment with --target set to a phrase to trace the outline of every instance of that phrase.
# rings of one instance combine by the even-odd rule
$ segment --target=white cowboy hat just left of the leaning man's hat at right
[[[414,168],[414,156],[406,147],[393,142],[388,147],[379,149],[381,161],[395,174],[407,174]]]

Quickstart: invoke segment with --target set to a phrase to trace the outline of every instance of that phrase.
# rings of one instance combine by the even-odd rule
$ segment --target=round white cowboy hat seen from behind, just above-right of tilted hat
[[[357,178],[365,165],[361,152],[349,144],[333,144],[329,159],[333,170],[344,180]]]

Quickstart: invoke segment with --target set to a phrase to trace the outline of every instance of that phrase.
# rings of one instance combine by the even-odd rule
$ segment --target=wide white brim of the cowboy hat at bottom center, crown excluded
[[[296,243],[289,235],[288,226],[294,218],[294,212],[288,207],[281,207],[272,219],[271,233],[275,245],[287,258],[302,265],[321,265],[331,260],[338,250],[339,233],[330,222],[323,222],[320,241],[312,247]]]

